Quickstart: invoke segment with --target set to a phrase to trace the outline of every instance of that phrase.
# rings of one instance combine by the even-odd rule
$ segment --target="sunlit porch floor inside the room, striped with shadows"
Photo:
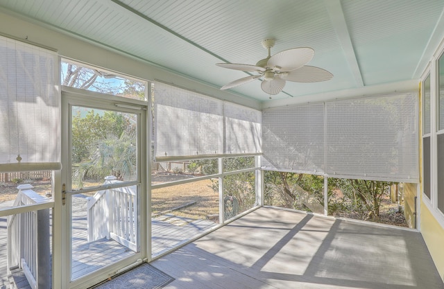
[[[261,208],[162,256],[164,289],[442,289],[416,231]]]

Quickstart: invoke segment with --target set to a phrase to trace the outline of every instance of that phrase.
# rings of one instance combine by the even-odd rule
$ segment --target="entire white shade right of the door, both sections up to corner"
[[[262,112],[162,82],[154,98],[155,161],[262,152]]]

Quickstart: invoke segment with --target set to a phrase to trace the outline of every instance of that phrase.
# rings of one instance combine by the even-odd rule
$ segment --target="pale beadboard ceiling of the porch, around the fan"
[[[309,46],[326,82],[288,82],[272,98],[418,79],[444,37],[444,0],[0,0],[0,8],[213,87],[248,76],[217,62],[255,64]],[[0,28],[1,31],[1,28]],[[230,89],[267,101],[260,80]]]

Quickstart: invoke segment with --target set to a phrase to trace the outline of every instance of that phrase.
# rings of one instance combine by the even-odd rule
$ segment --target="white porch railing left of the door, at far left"
[[[14,207],[46,202],[30,184],[17,186]],[[8,275],[21,268],[33,289],[51,288],[49,209],[8,216]]]

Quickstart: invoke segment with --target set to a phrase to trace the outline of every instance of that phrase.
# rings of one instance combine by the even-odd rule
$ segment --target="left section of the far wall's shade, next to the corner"
[[[263,166],[300,173],[323,173],[323,103],[264,110],[262,130]]]

